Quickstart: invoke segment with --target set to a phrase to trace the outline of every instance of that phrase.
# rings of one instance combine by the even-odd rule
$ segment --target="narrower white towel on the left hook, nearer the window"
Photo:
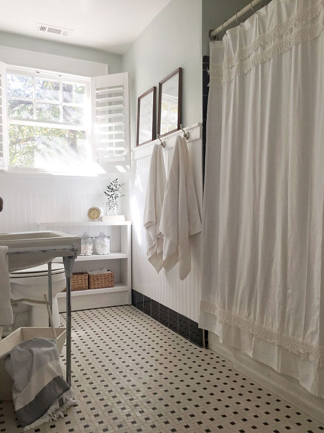
[[[162,269],[163,236],[160,232],[160,220],[165,190],[165,167],[162,146],[154,147],[146,190],[144,208],[144,227],[146,229],[146,254],[159,273]]]

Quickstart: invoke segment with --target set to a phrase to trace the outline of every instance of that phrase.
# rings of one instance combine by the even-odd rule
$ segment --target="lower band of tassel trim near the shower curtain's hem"
[[[320,367],[324,367],[324,347],[319,347],[308,341],[299,340],[290,335],[275,331],[236,313],[221,309],[216,304],[209,301],[201,300],[200,310],[216,315],[217,320],[220,323],[227,323],[230,326],[235,326],[262,340],[284,347],[296,355],[312,356],[318,360]]]

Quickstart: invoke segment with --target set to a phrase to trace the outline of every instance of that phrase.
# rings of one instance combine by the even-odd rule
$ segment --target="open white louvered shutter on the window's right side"
[[[91,78],[93,156],[107,173],[130,161],[128,72]]]

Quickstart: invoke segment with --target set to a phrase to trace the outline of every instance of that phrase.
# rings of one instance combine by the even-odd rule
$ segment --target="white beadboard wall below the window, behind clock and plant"
[[[115,179],[117,175],[114,175]],[[125,175],[118,175],[124,182]],[[0,232],[38,230],[38,222],[87,221],[96,205],[105,213],[107,179],[54,176],[36,173],[0,173]],[[124,213],[125,198],[119,205]],[[57,230],[57,228],[56,228]]]

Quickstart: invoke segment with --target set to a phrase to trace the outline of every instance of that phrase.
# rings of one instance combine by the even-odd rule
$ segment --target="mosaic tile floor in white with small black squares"
[[[135,307],[77,311],[72,320],[78,404],[32,433],[324,431],[229,361]],[[0,432],[22,431],[12,403],[0,403]]]

